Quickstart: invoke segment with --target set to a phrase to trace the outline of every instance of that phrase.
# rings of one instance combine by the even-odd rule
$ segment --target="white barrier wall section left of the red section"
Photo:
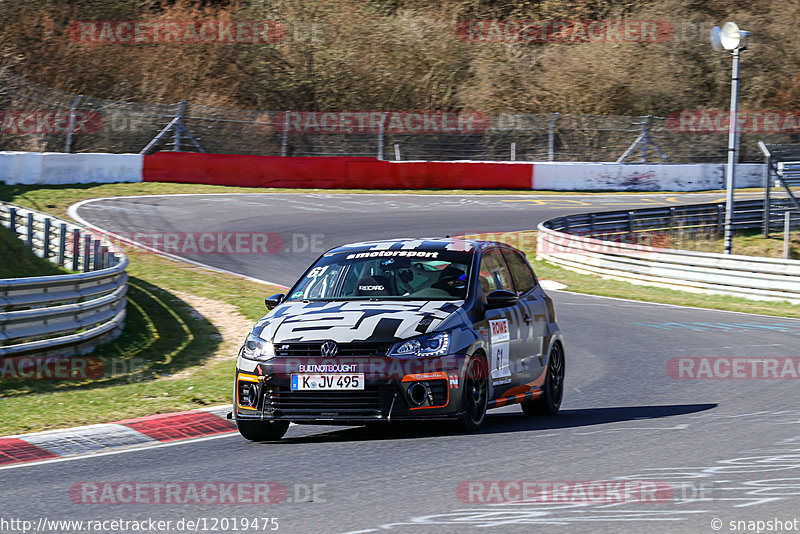
[[[139,154],[0,152],[0,182],[7,184],[86,184],[141,182]]]

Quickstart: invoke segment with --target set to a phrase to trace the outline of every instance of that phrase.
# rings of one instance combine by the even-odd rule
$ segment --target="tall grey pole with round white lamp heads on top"
[[[733,251],[733,188],[736,175],[736,128],[739,105],[739,53],[747,49],[750,32],[740,30],[734,22],[726,22],[722,28],[711,28],[711,46],[717,52],[730,50],[733,56],[731,69],[731,114],[728,119],[728,168],[725,195],[725,254]]]

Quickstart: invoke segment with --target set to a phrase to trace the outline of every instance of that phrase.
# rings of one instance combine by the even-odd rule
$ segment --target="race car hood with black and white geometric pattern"
[[[287,302],[276,307],[253,333],[274,343],[332,339],[390,342],[432,332],[463,301]]]

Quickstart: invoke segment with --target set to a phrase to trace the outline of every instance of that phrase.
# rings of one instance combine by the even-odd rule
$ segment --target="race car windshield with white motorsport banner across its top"
[[[331,254],[306,273],[287,300],[463,300],[471,263],[468,252]]]

